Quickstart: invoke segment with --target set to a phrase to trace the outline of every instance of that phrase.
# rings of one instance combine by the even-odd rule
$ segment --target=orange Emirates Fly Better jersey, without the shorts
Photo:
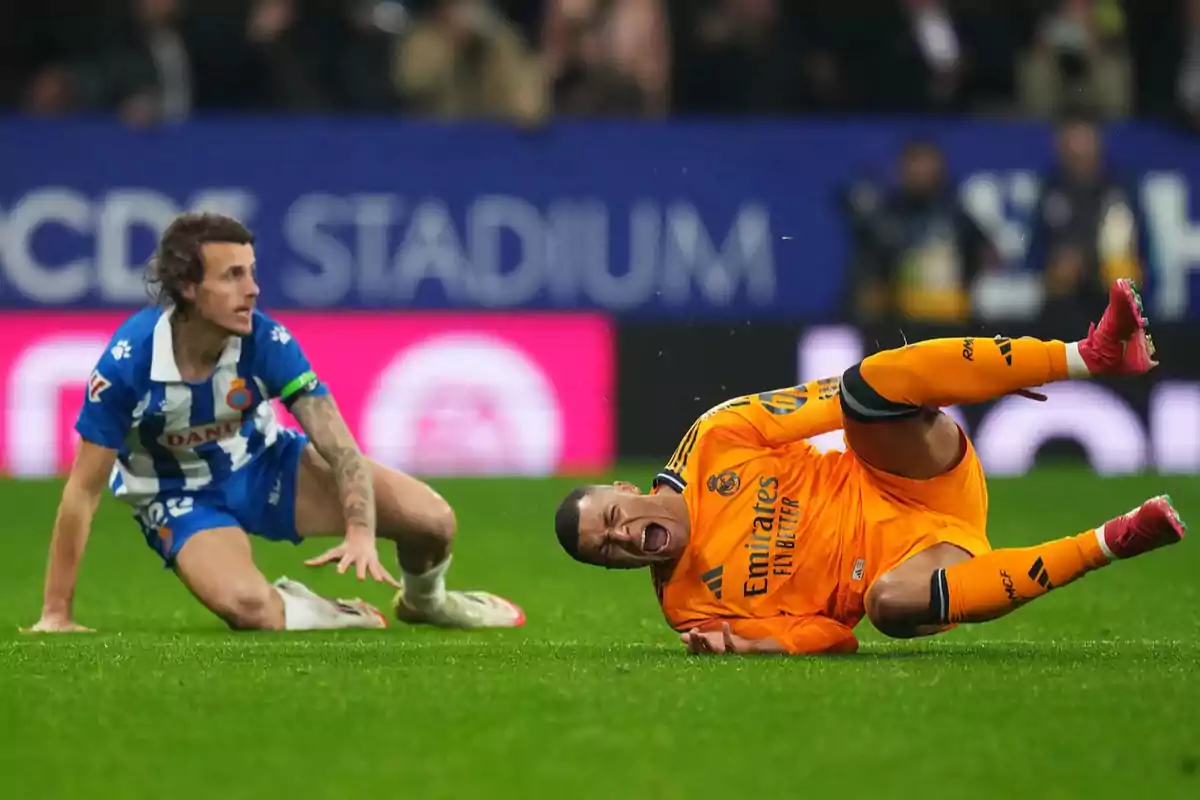
[[[691,521],[684,555],[655,572],[672,627],[728,621],[793,651],[857,645],[862,607],[844,585],[863,578],[862,513],[847,501],[862,471],[805,441],[841,426],[836,380],[734,398],[692,425],[655,477]]]

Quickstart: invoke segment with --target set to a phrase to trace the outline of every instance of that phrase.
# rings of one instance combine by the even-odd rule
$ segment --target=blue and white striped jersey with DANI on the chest
[[[145,308],[113,335],[88,381],[76,431],[118,451],[109,486],[138,505],[160,492],[218,487],[280,435],[271,398],[328,390],[286,327],[254,312],[212,375],[187,383],[172,345],[170,308]]]

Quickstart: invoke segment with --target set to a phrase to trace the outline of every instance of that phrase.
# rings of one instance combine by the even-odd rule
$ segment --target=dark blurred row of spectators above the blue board
[[[37,0],[0,106],[1200,119],[1200,0]]]

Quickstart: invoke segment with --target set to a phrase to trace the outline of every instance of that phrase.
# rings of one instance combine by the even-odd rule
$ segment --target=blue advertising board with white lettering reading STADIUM
[[[905,121],[580,122],[523,132],[406,120],[0,121],[0,307],[145,301],[184,209],[258,236],[276,308],[605,309],[631,319],[816,320],[845,291],[836,193],[937,140],[1021,264],[1051,131]],[[1117,126],[1146,219],[1156,312],[1200,308],[1200,145]]]

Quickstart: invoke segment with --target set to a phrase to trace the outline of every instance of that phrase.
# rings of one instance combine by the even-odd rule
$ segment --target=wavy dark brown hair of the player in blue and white
[[[163,231],[146,265],[146,289],[163,305],[186,308],[184,287],[204,279],[200,251],[209,242],[253,245],[254,234],[233,217],[208,211],[181,213]]]

